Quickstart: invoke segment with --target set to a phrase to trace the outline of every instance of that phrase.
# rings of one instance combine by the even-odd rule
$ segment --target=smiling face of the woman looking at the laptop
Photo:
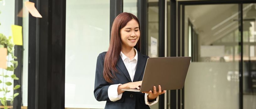
[[[135,19],[120,30],[122,46],[134,47],[140,38],[139,24]]]

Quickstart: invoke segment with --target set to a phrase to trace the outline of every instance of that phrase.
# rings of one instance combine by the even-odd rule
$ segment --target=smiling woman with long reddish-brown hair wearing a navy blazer
[[[159,91],[155,86],[144,93],[122,91],[140,89],[149,57],[135,49],[139,46],[139,20],[131,13],[119,14],[113,22],[109,49],[99,54],[96,64],[94,96],[98,101],[107,101],[105,109],[150,109],[158,95],[166,92],[160,85]]]

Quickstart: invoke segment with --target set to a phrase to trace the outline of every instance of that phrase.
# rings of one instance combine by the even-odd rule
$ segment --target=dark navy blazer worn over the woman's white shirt
[[[115,102],[109,100],[108,88],[112,84],[125,84],[131,82],[130,75],[125,67],[125,64],[119,56],[116,63],[116,69],[119,73],[115,73],[116,79],[113,83],[108,83],[103,77],[104,57],[106,52],[99,54],[96,64],[95,84],[94,84],[94,97],[97,101],[107,101],[105,109],[150,109],[145,104],[145,93],[141,92],[123,92],[122,98]],[[133,82],[141,81],[143,78],[147,58],[146,55],[138,52],[137,68],[135,71]]]

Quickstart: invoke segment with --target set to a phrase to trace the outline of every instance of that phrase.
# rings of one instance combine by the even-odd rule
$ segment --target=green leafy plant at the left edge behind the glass
[[[0,48],[7,49],[7,68],[0,68],[0,100],[1,104],[4,106],[4,109],[8,109],[7,101],[10,101],[12,105],[14,98],[19,95],[19,93],[11,93],[11,90],[16,90],[20,88],[20,85],[15,85],[14,87],[11,87],[13,81],[19,80],[19,78],[17,78],[14,74],[14,69],[17,68],[18,61],[14,60],[17,59],[17,57],[14,56],[14,44],[12,40],[13,39],[11,36],[7,38],[6,36],[0,33]],[[8,96],[8,94],[12,96]]]

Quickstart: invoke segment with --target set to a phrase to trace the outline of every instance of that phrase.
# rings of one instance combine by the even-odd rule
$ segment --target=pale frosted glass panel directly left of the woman
[[[109,47],[109,0],[67,0],[66,108],[104,108],[93,96],[96,60]]]

